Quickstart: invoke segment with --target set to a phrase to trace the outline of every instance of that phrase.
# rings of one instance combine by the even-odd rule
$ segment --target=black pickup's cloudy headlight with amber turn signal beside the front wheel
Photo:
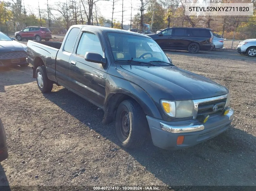
[[[192,117],[194,112],[194,103],[192,100],[168,101],[161,100],[162,108],[168,116],[183,118]]]

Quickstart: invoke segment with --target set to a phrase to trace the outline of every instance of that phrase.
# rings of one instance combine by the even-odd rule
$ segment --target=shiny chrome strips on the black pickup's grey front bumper
[[[234,110],[230,108],[228,114],[226,115],[229,117],[229,121],[234,117]],[[160,122],[160,127],[163,131],[167,131],[170,133],[190,133],[190,132],[198,132],[204,130],[203,124],[194,124],[190,123],[184,126],[170,126],[165,123]]]

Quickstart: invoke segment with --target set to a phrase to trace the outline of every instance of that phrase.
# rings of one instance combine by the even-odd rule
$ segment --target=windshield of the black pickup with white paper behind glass
[[[151,38],[131,34],[108,33],[111,50],[116,61],[167,62],[169,59]]]

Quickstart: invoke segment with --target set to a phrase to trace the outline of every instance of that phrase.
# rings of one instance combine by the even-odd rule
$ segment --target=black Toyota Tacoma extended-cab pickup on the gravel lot
[[[148,135],[160,148],[191,147],[224,132],[233,119],[227,88],[176,67],[143,34],[74,25],[63,43],[29,40],[27,55],[43,93],[55,83],[95,104],[104,110],[102,123],[115,121],[126,148]]]

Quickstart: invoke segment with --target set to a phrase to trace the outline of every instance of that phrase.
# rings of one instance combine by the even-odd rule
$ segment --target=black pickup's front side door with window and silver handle
[[[69,59],[68,86],[89,101],[103,107],[107,69],[100,63],[85,60],[85,53],[98,53],[105,57],[97,35],[83,31],[77,49]]]

